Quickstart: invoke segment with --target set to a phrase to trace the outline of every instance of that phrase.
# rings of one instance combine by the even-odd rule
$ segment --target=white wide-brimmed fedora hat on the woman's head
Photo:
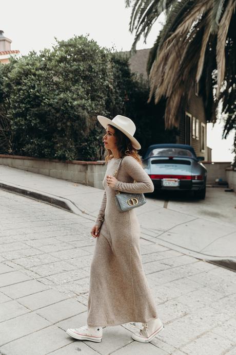
[[[104,116],[97,116],[97,119],[104,128],[107,128],[107,125],[111,125],[122,131],[131,140],[133,148],[141,149],[141,145],[137,139],[133,137],[136,127],[130,118],[117,115],[113,119]]]

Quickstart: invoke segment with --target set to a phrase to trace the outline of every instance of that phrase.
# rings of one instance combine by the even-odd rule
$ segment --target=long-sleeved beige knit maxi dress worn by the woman
[[[142,265],[136,208],[121,212],[115,204],[115,190],[152,192],[154,186],[132,156],[123,158],[115,187],[108,186],[106,176],[113,175],[120,159],[108,161],[103,180],[105,191],[95,221],[100,235],[95,241],[90,268],[87,324],[91,327],[148,323],[158,316]]]

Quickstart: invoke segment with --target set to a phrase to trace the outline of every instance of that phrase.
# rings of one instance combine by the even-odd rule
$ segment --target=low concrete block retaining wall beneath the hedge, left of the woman
[[[103,189],[105,161],[58,161],[29,156],[0,154],[0,164]]]

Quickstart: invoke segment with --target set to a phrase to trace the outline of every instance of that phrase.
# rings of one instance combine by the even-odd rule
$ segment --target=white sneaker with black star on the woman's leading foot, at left
[[[101,342],[103,338],[103,327],[90,327],[88,325],[67,329],[67,334],[78,340],[91,340],[92,342]]]

